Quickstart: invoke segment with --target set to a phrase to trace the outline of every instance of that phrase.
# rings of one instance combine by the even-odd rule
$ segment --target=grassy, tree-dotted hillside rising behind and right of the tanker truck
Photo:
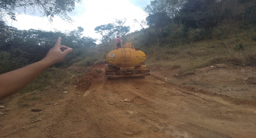
[[[193,72],[197,68],[204,68],[214,64],[228,64],[230,66],[254,66],[256,28],[253,23],[235,22],[222,23],[214,28],[210,36],[200,34],[202,30],[191,31],[187,38],[179,37],[181,25],[173,25],[169,30],[170,36],[163,38],[160,44],[145,45],[142,31],[130,33],[126,38],[137,38],[134,47],[139,47],[146,53],[145,63],[153,70],[168,68],[179,69],[179,74]],[[150,28],[148,29],[150,30]],[[174,40],[173,40],[174,39]],[[114,49],[115,42],[105,42],[97,48],[86,51],[86,58],[79,57],[72,66],[87,66],[104,64],[106,51]],[[88,64],[90,62],[90,64]],[[181,76],[182,77],[182,76]]]

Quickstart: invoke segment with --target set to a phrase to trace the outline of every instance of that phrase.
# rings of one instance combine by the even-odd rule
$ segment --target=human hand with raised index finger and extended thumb
[[[43,60],[45,60],[47,63],[49,63],[51,66],[55,63],[61,62],[66,55],[72,52],[72,48],[69,48],[67,46],[60,45],[61,37],[59,37],[52,49],[49,50],[47,55],[44,57]]]

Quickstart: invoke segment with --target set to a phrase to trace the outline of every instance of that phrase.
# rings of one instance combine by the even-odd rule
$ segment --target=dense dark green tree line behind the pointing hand
[[[78,33],[74,36],[70,32],[57,30],[18,30],[0,21],[0,74],[41,60],[58,37],[62,37],[61,44],[73,48],[73,52],[56,66],[68,66],[73,58],[81,54],[81,48],[96,46],[95,39],[79,35],[82,31],[82,27],[70,31]]]

